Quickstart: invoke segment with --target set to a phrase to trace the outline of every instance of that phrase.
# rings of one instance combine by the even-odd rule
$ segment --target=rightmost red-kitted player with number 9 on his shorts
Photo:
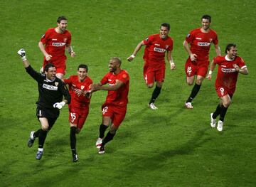
[[[248,74],[247,66],[245,65],[244,60],[237,55],[238,48],[234,43],[228,44],[225,48],[225,53],[227,55],[213,58],[207,75],[208,80],[211,80],[213,70],[215,66],[218,65],[215,90],[218,97],[220,97],[220,103],[218,104],[215,112],[210,114],[210,126],[213,128],[216,124],[216,117],[220,115],[217,126],[218,131],[223,130],[224,117],[231,103],[231,98],[235,93],[238,73],[243,75]]]

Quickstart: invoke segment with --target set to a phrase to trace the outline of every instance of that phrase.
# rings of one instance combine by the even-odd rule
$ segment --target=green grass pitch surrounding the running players
[[[255,186],[255,1],[3,1],[0,55],[0,186]],[[94,82],[107,73],[110,57],[122,58],[130,75],[127,117],[106,154],[97,154],[95,140],[101,105],[107,92],[96,92],[85,127],[77,136],[78,163],[71,161],[68,109],[62,109],[48,134],[41,161],[28,135],[39,124],[35,116],[37,85],[16,55],[25,48],[33,68],[43,55],[38,41],[60,15],[68,17],[75,58],[68,58],[68,75],[86,63]],[[225,117],[223,132],[211,129],[209,114],[217,103],[214,80],[204,80],[193,102],[183,108],[192,87],[186,85],[182,43],[203,14],[213,18],[220,47],[238,44],[249,75],[240,75]],[[142,78],[141,50],[125,60],[137,43],[171,24],[177,70],[166,69],[157,111],[146,107],[151,92]],[[210,51],[210,58],[215,52]],[[214,73],[214,78],[215,78]]]

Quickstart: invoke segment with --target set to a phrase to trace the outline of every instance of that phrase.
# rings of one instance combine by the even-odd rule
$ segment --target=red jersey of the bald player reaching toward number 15
[[[128,103],[128,92],[129,92],[129,74],[126,70],[121,70],[120,73],[114,75],[114,73],[107,73],[104,78],[100,81],[102,85],[109,84],[115,85],[116,80],[124,83],[118,90],[109,90],[107,92],[107,98],[105,103],[112,105],[124,106]]]

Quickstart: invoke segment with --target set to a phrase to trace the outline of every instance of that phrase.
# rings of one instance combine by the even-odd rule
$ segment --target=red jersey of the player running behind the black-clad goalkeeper
[[[49,28],[42,36],[41,42],[46,45],[46,52],[53,58],[65,57],[65,47],[71,43],[71,33],[66,30],[64,33],[57,33],[55,28]]]

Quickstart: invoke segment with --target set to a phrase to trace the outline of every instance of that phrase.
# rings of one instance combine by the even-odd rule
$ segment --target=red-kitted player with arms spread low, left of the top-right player
[[[130,55],[127,60],[132,61],[142,46],[146,46],[144,49],[144,80],[149,88],[154,86],[156,82],[156,87],[152,93],[151,100],[149,100],[148,107],[151,109],[157,109],[154,105],[156,98],[161,92],[161,87],[164,82],[165,77],[165,54],[167,51],[167,60],[171,65],[171,70],[174,70],[175,64],[171,56],[171,50],[174,46],[174,41],[168,36],[170,32],[169,23],[162,23],[160,26],[159,34],[153,34],[141,41],[137,47],[134,49],[132,55]]]

